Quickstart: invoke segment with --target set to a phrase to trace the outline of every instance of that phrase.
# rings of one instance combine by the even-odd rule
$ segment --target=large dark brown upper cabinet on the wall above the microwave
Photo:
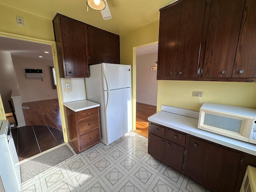
[[[256,82],[255,20],[255,0],[179,0],[160,9],[157,79]]]

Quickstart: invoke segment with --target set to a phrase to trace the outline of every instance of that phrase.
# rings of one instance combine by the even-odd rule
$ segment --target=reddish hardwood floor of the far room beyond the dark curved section
[[[62,130],[58,99],[22,104],[22,106],[25,105],[29,107],[29,109],[23,109],[26,126],[44,125]]]

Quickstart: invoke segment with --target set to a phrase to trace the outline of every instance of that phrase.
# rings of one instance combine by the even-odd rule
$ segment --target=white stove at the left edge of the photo
[[[0,180],[5,192],[20,190],[20,164],[8,120],[0,120]]]

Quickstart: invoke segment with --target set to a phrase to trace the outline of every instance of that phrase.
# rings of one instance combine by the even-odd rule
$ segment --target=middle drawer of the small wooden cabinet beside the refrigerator
[[[78,130],[80,135],[97,127],[100,127],[99,116],[94,116],[78,122]]]

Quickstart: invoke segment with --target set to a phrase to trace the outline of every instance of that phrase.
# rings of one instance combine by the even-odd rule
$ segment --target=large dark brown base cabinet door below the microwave
[[[187,174],[214,191],[233,192],[240,159],[241,154],[190,138]]]

